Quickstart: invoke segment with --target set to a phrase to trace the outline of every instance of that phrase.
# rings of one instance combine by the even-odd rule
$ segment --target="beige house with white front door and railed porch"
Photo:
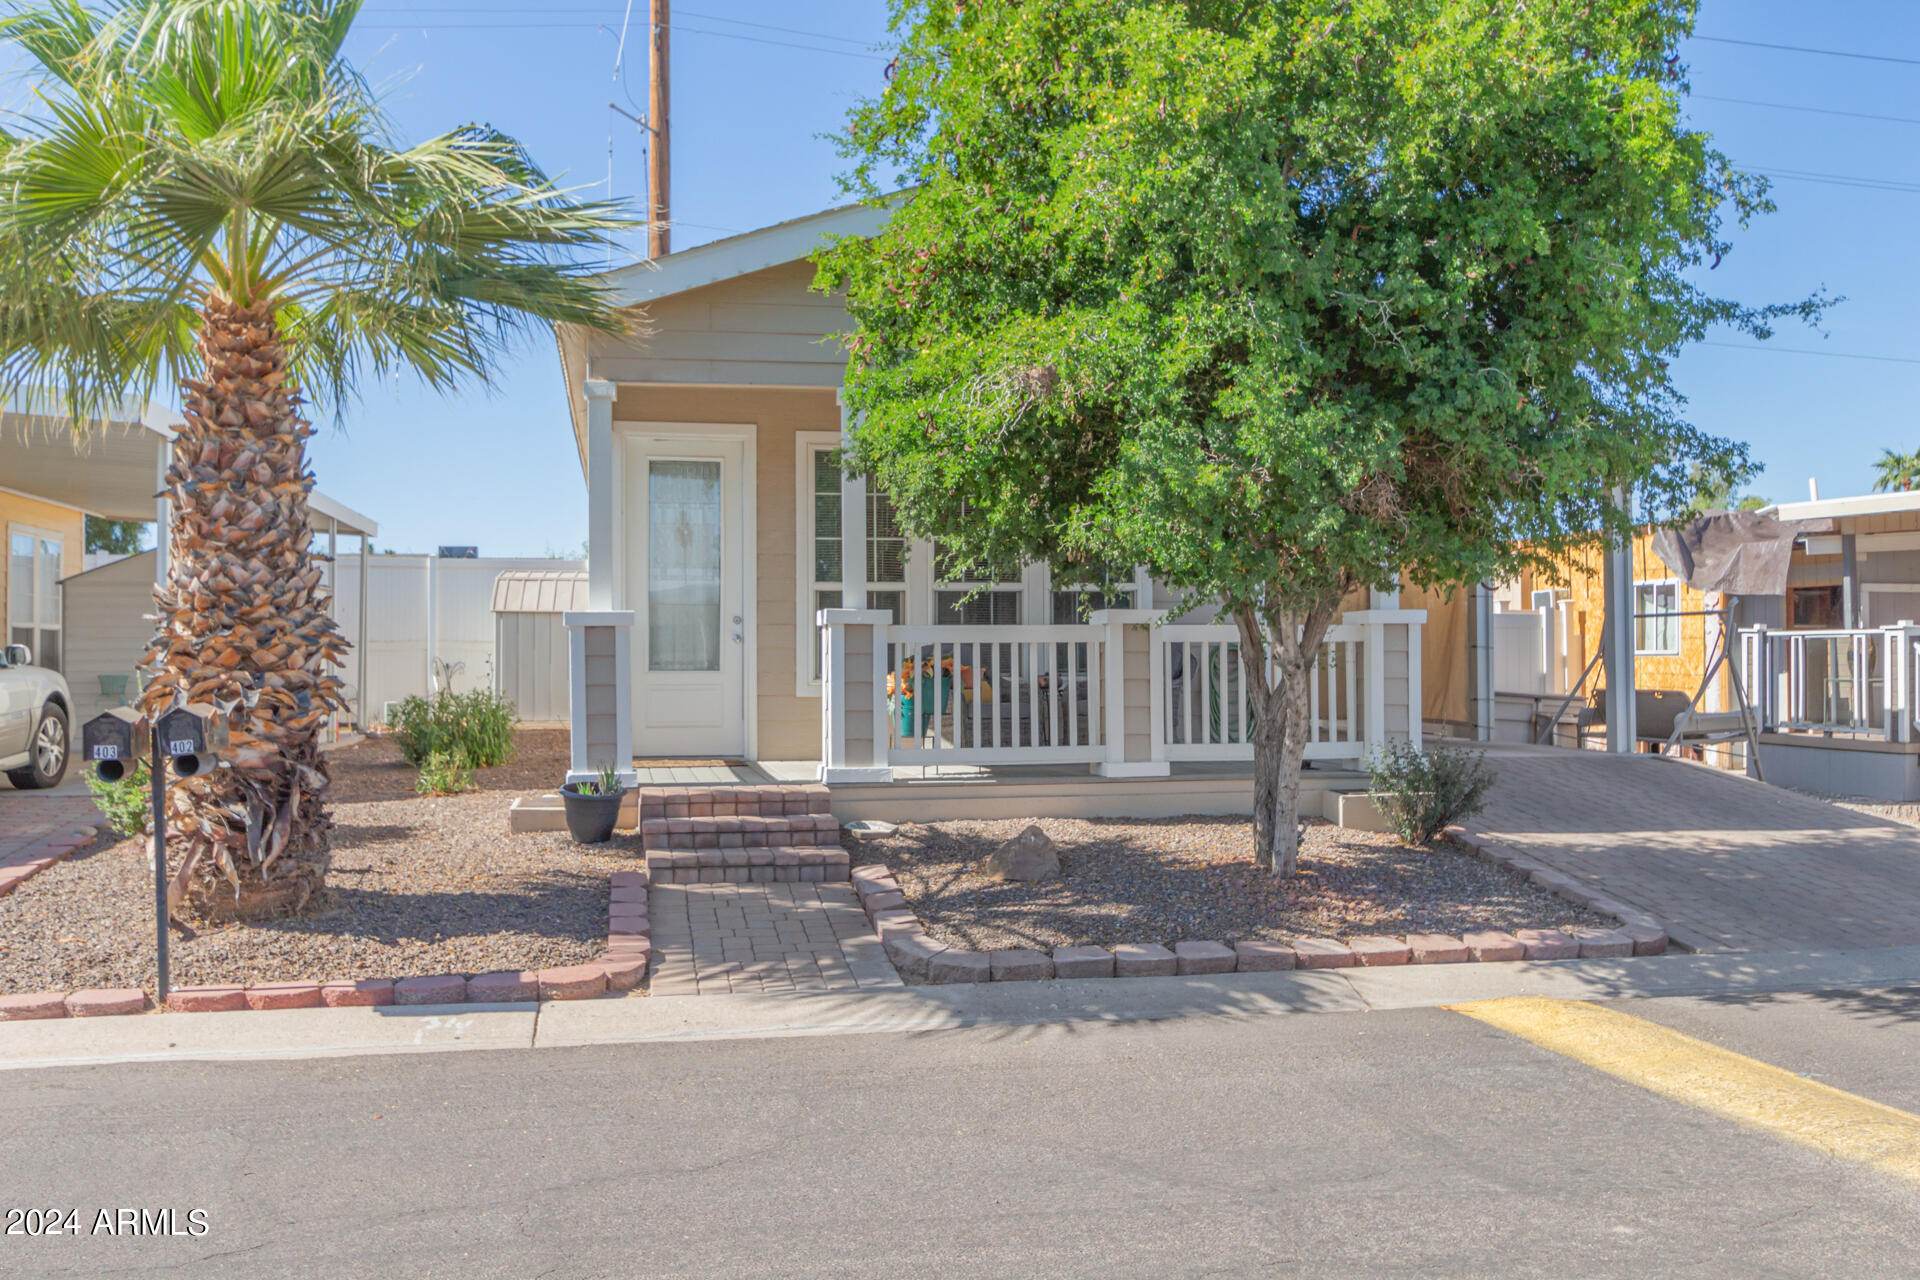
[[[1171,626],[1125,566],[1098,589],[1044,564],[948,581],[841,474],[851,320],[806,255],[883,217],[833,209],[614,273],[645,332],[559,334],[589,524],[588,606],[564,614],[572,775],[758,762],[828,781],[843,816],[906,812],[902,789],[918,814],[958,794],[973,814],[1244,810],[1233,628]],[[1373,604],[1331,637],[1313,697],[1309,758],[1348,785],[1421,731],[1425,614]]]

